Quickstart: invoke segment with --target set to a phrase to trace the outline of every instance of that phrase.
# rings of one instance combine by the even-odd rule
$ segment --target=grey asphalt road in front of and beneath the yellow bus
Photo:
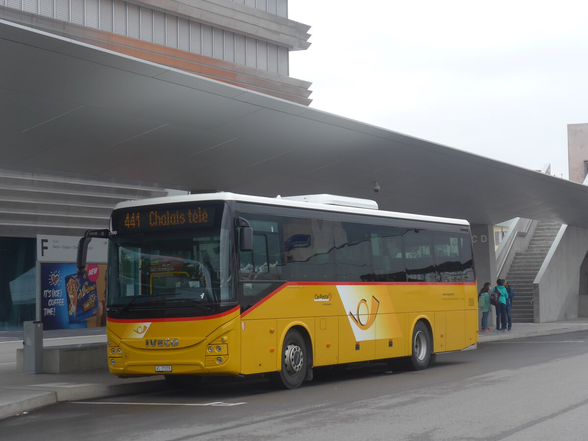
[[[211,379],[62,403],[0,422],[34,440],[585,440],[588,332],[485,343],[420,372],[315,369],[296,390]]]

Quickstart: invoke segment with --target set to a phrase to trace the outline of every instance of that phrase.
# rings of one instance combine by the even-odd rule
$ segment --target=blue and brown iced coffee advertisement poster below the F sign
[[[43,329],[106,325],[106,265],[89,264],[79,276],[75,263],[41,263]]]

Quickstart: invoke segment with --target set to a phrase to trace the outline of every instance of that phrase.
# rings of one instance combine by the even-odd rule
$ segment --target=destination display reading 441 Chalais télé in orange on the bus
[[[218,206],[148,206],[119,209],[112,213],[112,230],[133,233],[176,228],[207,228],[215,225]]]

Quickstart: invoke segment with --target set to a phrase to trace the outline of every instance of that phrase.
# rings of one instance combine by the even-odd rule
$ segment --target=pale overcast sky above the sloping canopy
[[[567,179],[588,122],[588,2],[289,0],[311,106]]]

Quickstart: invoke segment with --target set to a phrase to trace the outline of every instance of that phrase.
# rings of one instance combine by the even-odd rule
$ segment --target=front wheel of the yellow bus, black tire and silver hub
[[[290,329],[282,345],[282,369],[279,372],[280,386],[296,389],[302,385],[308,371],[308,350],[300,332]]]

